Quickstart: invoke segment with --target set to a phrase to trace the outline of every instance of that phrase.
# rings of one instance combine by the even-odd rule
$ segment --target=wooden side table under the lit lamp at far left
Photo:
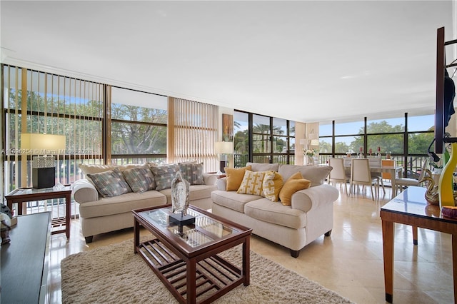
[[[17,203],[17,214],[22,214],[21,203],[31,201],[43,201],[52,198],[65,198],[65,217],[53,218],[51,221],[51,227],[53,228],[52,234],[65,232],[66,238],[70,238],[70,223],[71,223],[71,186],[64,186],[61,190],[55,190],[54,188],[17,188],[14,191],[8,193],[6,198],[6,204],[13,210],[13,204]],[[62,227],[65,228],[60,230],[54,230],[54,228]]]

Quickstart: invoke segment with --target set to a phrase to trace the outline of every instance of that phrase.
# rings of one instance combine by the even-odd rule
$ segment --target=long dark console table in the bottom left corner
[[[49,303],[51,213],[18,216],[1,246],[1,303]]]

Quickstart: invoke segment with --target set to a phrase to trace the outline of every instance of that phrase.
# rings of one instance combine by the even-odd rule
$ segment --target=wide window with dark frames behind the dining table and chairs
[[[321,162],[328,157],[343,157],[347,153],[363,157],[375,156],[378,149],[383,158],[391,155],[407,176],[414,175],[428,158],[428,146],[433,141],[434,115],[368,119],[363,121],[321,123],[319,154]],[[441,163],[433,164],[441,166]]]

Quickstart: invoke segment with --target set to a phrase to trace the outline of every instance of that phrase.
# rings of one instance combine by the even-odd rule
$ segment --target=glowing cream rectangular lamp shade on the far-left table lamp
[[[65,150],[65,136],[54,134],[22,133],[21,150],[24,154],[61,154]]]

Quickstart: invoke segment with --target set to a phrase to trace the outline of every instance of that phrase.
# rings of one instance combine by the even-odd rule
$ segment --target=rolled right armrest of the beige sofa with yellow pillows
[[[338,196],[338,189],[328,184],[322,184],[293,193],[291,207],[308,212],[321,204],[333,203],[338,199]]]

